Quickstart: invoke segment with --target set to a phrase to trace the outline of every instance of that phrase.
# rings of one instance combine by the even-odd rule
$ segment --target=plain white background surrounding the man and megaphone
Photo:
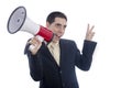
[[[64,12],[68,18],[64,37],[76,41],[80,51],[87,24],[95,25],[98,45],[90,70],[77,68],[80,88],[132,88],[131,0],[0,0],[0,88],[38,88],[23,54],[32,35],[7,30],[9,15],[19,6],[44,26],[50,12]]]

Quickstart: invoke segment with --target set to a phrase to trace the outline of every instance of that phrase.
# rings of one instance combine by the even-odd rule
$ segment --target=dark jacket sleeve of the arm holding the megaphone
[[[24,54],[28,56],[28,59],[29,59],[30,75],[35,81],[38,81],[42,79],[42,76],[43,76],[42,59],[40,58],[41,50],[38,50],[36,55],[32,55],[28,48],[29,48],[29,45],[26,44]]]

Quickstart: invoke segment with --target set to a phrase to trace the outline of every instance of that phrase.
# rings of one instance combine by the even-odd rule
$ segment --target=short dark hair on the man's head
[[[52,24],[55,21],[55,18],[63,18],[67,21],[67,16],[63,12],[54,11],[47,15],[46,22]]]

